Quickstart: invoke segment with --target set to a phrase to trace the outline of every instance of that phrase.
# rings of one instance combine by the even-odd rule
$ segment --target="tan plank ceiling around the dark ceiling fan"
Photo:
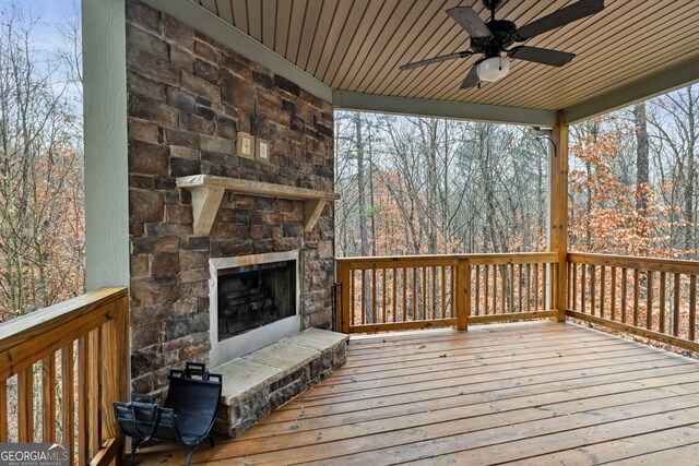
[[[481,0],[192,0],[340,91],[557,110],[699,59],[699,1],[606,0],[591,17],[524,43],[570,51],[565,68],[514,61],[508,76],[459,86],[479,56],[411,71],[399,65],[465,50],[469,35],[446,14]],[[506,0],[496,19],[518,26],[568,0]]]

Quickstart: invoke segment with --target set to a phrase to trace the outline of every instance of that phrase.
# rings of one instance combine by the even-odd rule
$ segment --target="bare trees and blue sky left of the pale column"
[[[59,24],[0,4],[0,322],[84,290],[80,5],[63,3]]]

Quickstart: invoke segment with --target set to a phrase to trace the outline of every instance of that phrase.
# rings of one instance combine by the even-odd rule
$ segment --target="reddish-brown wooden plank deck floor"
[[[696,465],[699,362],[570,323],[352,338],[330,379],[201,449],[196,464]]]

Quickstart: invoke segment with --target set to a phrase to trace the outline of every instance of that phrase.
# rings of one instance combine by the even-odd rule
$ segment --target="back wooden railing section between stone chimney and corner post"
[[[554,253],[337,259],[346,333],[457,326],[556,315]]]

